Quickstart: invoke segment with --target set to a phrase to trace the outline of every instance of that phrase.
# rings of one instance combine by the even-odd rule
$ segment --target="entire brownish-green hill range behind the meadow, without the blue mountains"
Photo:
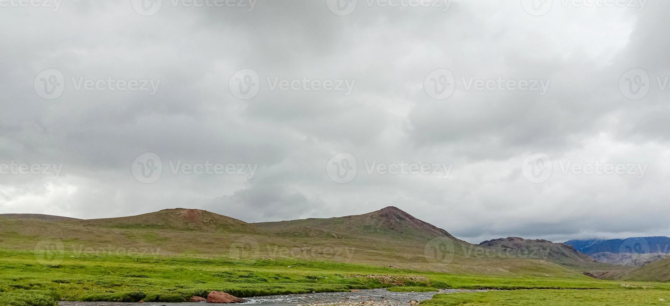
[[[74,253],[134,249],[200,257],[297,257],[503,277],[585,277],[584,271],[622,267],[586,261],[549,241],[472,245],[393,206],[354,216],[253,224],[184,208],[92,220],[0,218],[0,248],[34,250],[54,237]],[[543,248],[545,256],[532,252]]]

